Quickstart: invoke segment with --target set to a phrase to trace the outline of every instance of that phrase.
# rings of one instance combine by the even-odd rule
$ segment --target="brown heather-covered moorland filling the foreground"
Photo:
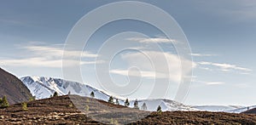
[[[28,102],[27,111],[21,107],[16,104],[0,109],[0,124],[256,124],[253,114],[137,111],[74,95]]]

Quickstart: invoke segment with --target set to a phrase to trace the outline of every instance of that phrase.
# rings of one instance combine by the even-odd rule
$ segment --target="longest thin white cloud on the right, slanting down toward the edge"
[[[245,72],[241,72],[241,73],[248,73],[251,72],[251,69],[248,68],[244,68],[244,67],[240,67],[237,65],[230,65],[230,64],[226,64],[226,63],[212,63],[212,62],[207,62],[207,61],[201,61],[198,62],[199,65],[212,65],[215,67],[218,67],[220,71],[245,71]]]

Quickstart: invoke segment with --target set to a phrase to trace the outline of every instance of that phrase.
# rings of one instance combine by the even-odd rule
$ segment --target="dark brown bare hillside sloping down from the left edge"
[[[19,78],[0,68],[0,97],[6,95],[9,104],[24,102],[32,97]]]

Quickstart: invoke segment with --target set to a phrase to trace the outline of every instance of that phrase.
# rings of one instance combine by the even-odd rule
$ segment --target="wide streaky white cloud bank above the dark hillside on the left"
[[[62,56],[64,53],[63,45],[46,45],[44,43],[32,42],[26,45],[17,45],[20,48],[22,55],[20,58],[2,58],[0,65],[5,66],[36,66],[36,67],[62,67]],[[65,51],[67,57],[65,58],[67,66],[75,63],[80,65],[91,65],[96,63],[103,63],[102,60],[95,61],[98,56],[90,52],[79,52],[76,50]],[[72,57],[81,57],[81,60],[72,60]],[[79,61],[79,62],[78,62]]]

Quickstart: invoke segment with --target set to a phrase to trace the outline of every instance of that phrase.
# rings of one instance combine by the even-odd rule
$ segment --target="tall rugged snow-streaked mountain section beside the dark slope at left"
[[[52,77],[22,77],[20,80],[31,91],[36,99],[49,98],[50,95],[57,92],[60,95],[78,94],[80,96],[89,96],[90,92],[94,92],[96,99],[106,100],[109,98],[108,94],[92,88],[88,85],[66,81],[60,78]]]

